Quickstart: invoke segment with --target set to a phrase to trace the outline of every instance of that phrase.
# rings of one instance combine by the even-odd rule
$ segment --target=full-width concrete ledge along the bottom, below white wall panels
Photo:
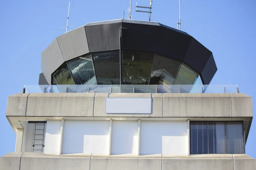
[[[0,170],[255,170],[255,159],[245,154],[193,156],[96,156],[8,153]]]

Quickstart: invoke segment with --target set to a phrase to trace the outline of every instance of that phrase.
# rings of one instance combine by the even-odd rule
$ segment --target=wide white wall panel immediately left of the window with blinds
[[[187,155],[186,121],[141,121],[140,154]]]

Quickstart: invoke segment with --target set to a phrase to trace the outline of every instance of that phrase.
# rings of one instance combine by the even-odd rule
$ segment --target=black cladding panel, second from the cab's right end
[[[204,45],[192,38],[184,62],[198,73],[202,73],[211,54],[212,52],[205,48]]]

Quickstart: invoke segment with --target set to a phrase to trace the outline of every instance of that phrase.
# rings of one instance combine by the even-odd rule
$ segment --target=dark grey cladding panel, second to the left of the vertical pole
[[[85,26],[89,51],[105,51],[103,25]]]

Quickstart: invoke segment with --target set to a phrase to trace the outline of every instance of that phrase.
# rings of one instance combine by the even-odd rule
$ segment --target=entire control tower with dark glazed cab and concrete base
[[[111,20],[42,52],[39,85],[9,96],[0,170],[255,170],[252,99],[209,85],[212,52],[160,23]]]

